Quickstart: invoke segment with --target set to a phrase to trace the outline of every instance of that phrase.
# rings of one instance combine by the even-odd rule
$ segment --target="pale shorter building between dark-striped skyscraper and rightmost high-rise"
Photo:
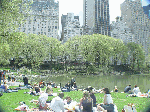
[[[134,36],[131,33],[131,29],[124,22],[122,22],[121,17],[116,17],[116,22],[113,22],[111,27],[111,37],[121,39],[125,44],[135,41],[133,38]]]

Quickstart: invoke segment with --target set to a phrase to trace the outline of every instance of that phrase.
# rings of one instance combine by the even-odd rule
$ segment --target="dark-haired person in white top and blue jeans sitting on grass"
[[[103,89],[105,95],[104,95],[104,103],[101,103],[100,105],[97,106],[98,111],[105,111],[107,112],[114,112],[114,104],[113,100],[111,97],[111,94],[109,92],[108,88]]]

